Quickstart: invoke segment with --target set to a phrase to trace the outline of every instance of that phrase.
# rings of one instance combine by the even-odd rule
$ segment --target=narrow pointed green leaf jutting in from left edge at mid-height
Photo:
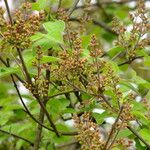
[[[9,67],[9,68],[0,68],[0,78],[9,76],[10,74],[19,72],[19,69]]]

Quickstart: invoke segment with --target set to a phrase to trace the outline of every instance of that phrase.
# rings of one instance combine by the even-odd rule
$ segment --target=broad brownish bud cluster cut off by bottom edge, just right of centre
[[[81,144],[82,150],[100,150],[104,145],[100,128],[91,121],[90,113],[84,113],[81,117],[74,117],[75,127],[78,129],[76,139]]]

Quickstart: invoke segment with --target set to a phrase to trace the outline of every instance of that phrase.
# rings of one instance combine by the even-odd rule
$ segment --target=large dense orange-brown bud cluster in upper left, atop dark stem
[[[23,10],[26,10],[24,14]],[[6,31],[3,33],[4,40],[14,48],[25,49],[31,44],[30,36],[39,30],[44,13],[27,13],[31,9],[30,3],[23,4],[23,7],[15,12],[13,24],[7,23]]]

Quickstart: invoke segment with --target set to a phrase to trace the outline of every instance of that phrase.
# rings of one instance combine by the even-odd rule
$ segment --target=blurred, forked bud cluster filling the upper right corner
[[[137,7],[137,12],[129,15],[133,24],[130,36],[124,25],[118,19],[114,19],[113,21],[113,30],[119,35],[116,45],[123,47],[127,52],[127,58],[131,60],[136,57],[138,50],[143,49],[150,43],[150,39],[147,37],[143,38],[150,28],[149,21],[146,17],[144,0],[138,0]]]

